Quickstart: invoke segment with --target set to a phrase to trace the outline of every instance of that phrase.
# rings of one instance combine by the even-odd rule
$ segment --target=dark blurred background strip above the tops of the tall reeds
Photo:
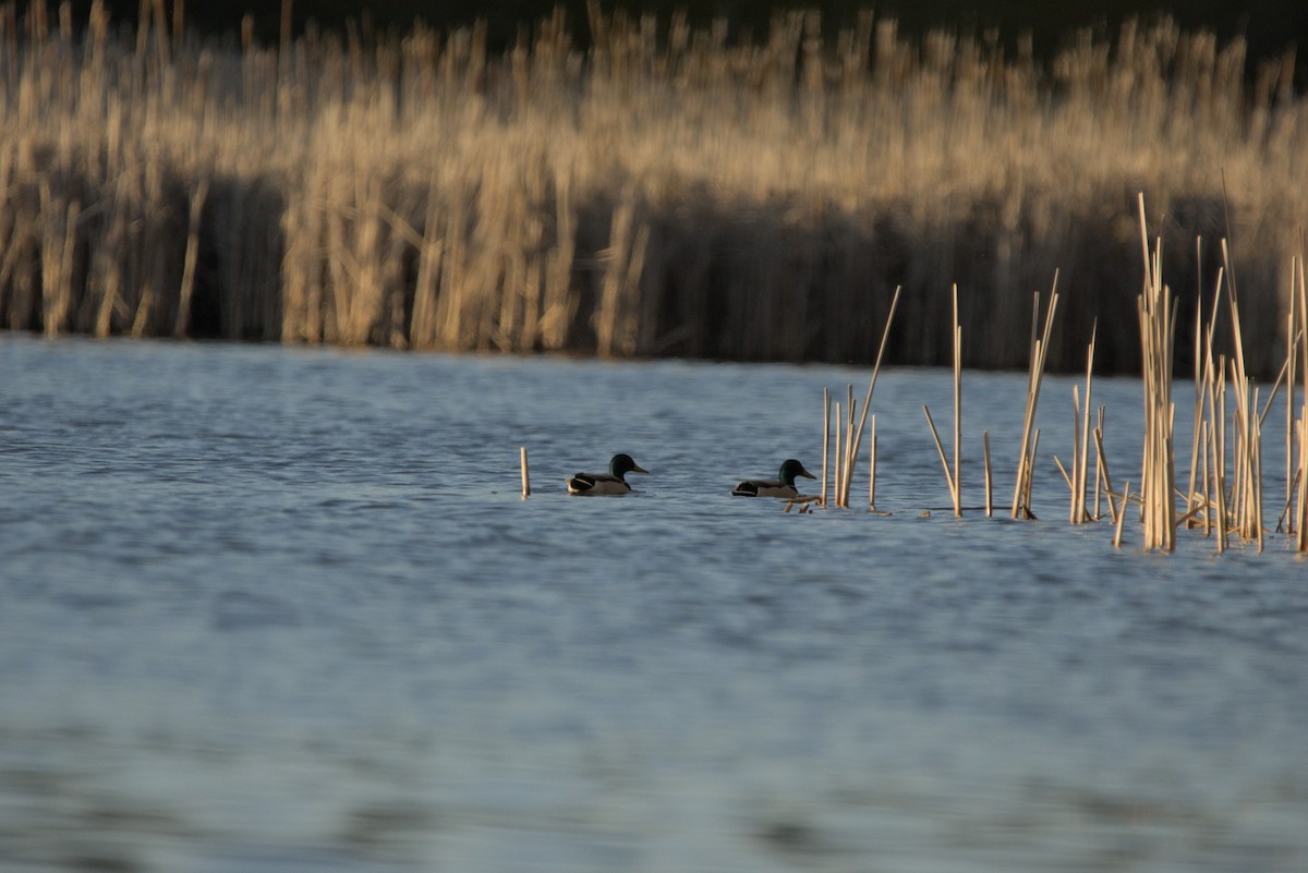
[[[92,0],[75,0],[75,21],[85,21]],[[54,4],[51,4],[54,5]],[[140,0],[106,0],[115,20],[136,17]],[[164,0],[171,9],[174,0]],[[297,33],[310,21],[324,29],[344,27],[353,20],[379,29],[407,30],[416,20],[436,27],[455,27],[483,20],[490,47],[502,48],[530,25],[562,7],[572,21],[573,35],[586,41],[586,0],[293,0],[292,21]],[[1308,38],[1308,3],[1301,0],[1096,0],[1095,3],[1050,3],[1050,0],[602,0],[606,13],[655,13],[667,21],[674,10],[684,10],[692,24],[725,18],[736,35],[764,35],[769,18],[782,9],[818,9],[824,26],[836,30],[853,24],[861,9],[874,9],[879,17],[900,21],[908,35],[940,27],[980,31],[998,27],[1006,41],[1029,33],[1037,51],[1052,54],[1078,29],[1113,33],[1122,20],[1167,14],[1184,30],[1211,30],[1218,37],[1244,37],[1250,60],[1281,54]],[[281,20],[280,0],[230,0],[184,4],[186,20],[208,34],[235,33],[249,14],[260,39],[273,41]]]

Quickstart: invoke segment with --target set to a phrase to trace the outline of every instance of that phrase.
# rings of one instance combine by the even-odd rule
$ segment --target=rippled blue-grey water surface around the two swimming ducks
[[[889,515],[727,497],[867,375],[0,336],[0,868],[1308,869],[1308,566],[1069,525],[1071,379],[1037,523],[942,511],[926,370]],[[965,375],[968,506],[1024,388]]]

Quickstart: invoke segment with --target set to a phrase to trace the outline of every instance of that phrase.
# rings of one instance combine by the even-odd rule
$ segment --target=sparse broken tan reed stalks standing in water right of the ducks
[[[1262,442],[1265,422],[1281,391],[1286,395],[1286,481],[1284,504],[1277,520],[1277,532],[1294,537],[1295,549],[1308,552],[1308,282],[1304,276],[1304,260],[1295,256],[1290,269],[1290,289],[1287,293],[1288,312],[1286,316],[1284,358],[1271,389],[1264,392],[1249,375],[1245,366],[1245,328],[1241,323],[1235,269],[1228,240],[1222,240],[1222,267],[1218,269],[1211,305],[1207,312],[1202,306],[1194,312],[1194,427],[1190,451],[1189,485],[1182,490],[1177,485],[1177,446],[1175,436],[1176,404],[1173,400],[1177,299],[1169,285],[1163,280],[1162,242],[1151,244],[1148,222],[1144,210],[1144,197],[1138,196],[1139,242],[1144,265],[1144,278],[1137,301],[1139,342],[1144,366],[1141,374],[1143,389],[1143,452],[1141,474],[1135,480],[1139,490],[1131,493],[1130,481],[1121,491],[1114,490],[1109,472],[1108,456],[1104,448],[1105,406],[1097,409],[1092,404],[1095,349],[1097,332],[1091,328],[1086,349],[1084,391],[1073,387],[1073,453],[1071,464],[1065,467],[1056,456],[1054,464],[1067,484],[1069,520],[1071,524],[1097,521],[1105,516],[1101,501],[1107,501],[1107,516],[1113,527],[1113,544],[1121,545],[1124,525],[1129,506],[1139,507],[1142,545],[1150,550],[1172,552],[1177,545],[1177,532],[1181,528],[1202,528],[1205,536],[1214,537],[1216,550],[1226,552],[1230,538],[1236,536],[1253,544],[1260,552],[1267,535],[1267,521],[1264,518],[1264,465]],[[1203,240],[1197,240],[1197,257],[1202,259]],[[1018,452],[1018,472],[1014,485],[1012,518],[1035,519],[1031,510],[1031,489],[1039,444],[1039,429],[1035,427],[1036,406],[1045,366],[1045,350],[1058,308],[1057,276],[1054,291],[1044,314],[1044,327],[1040,325],[1040,295],[1035,295],[1031,327],[1031,359],[1027,382],[1025,412],[1022,429],[1022,444]],[[957,286],[954,288],[955,315],[955,366],[954,366],[954,455],[947,456],[939,431],[930,409],[922,406],[931,433],[931,439],[944,468],[955,516],[963,515],[961,487],[959,481],[959,453],[961,446],[961,349],[963,331],[957,318]],[[893,310],[892,310],[893,314]],[[1230,320],[1230,357],[1216,352],[1218,324],[1226,314]],[[889,332],[889,323],[886,325]],[[883,336],[884,346],[884,336]],[[878,352],[878,362],[882,352]],[[875,384],[876,370],[872,371]],[[1296,392],[1296,386],[1299,389]],[[871,400],[871,386],[865,401],[863,414]],[[827,448],[831,446],[831,400],[824,391],[825,412],[823,420],[824,477],[820,503],[827,501]],[[849,506],[848,482],[857,457],[857,439],[853,434],[853,387],[848,391],[845,414],[836,404],[836,490],[835,506]],[[875,417],[874,417],[875,421]],[[844,433],[841,429],[844,422]],[[859,429],[861,433],[861,429]],[[990,481],[990,442],[989,433],[985,444],[985,510],[991,511]],[[841,451],[844,447],[844,451]],[[1091,451],[1093,451],[1093,478],[1091,478]],[[875,508],[875,451],[871,455],[872,472],[869,506]],[[844,482],[844,490],[841,487]],[[1179,511],[1177,503],[1184,507]]]

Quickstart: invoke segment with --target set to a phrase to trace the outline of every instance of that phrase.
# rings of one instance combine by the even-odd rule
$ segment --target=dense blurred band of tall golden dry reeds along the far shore
[[[135,33],[102,7],[0,8],[8,328],[871,361],[901,285],[887,362],[943,363],[957,284],[964,363],[1018,367],[1057,269],[1050,369],[1079,366],[1097,316],[1100,367],[1134,370],[1144,191],[1182,323],[1209,281],[1194,238],[1230,237],[1266,337],[1249,372],[1284,357],[1308,218],[1288,56],[1250,82],[1243,43],[1167,21],[1045,68],[870,13],[829,42],[785,13],[731,43],[598,10],[504,55],[476,27],[269,47],[162,7]]]

